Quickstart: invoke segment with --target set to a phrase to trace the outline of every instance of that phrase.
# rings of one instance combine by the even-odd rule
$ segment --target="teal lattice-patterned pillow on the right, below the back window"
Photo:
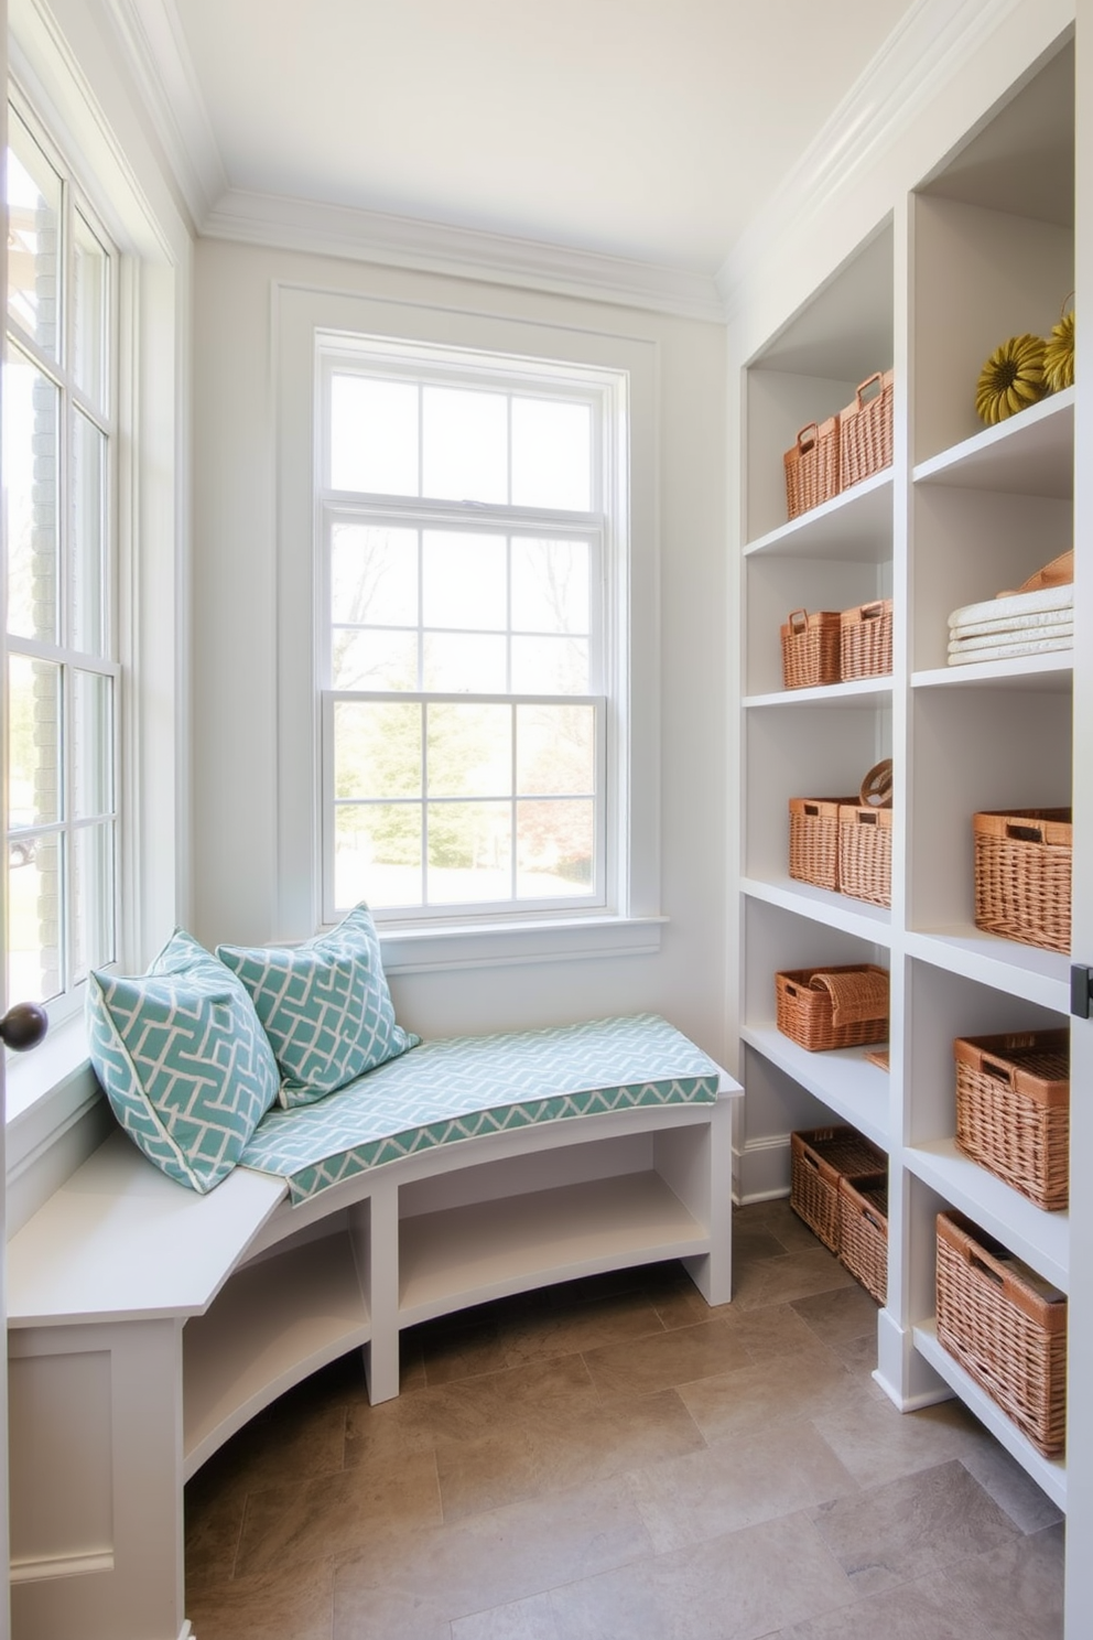
[[[279,1100],[292,1110],[421,1041],[395,1022],[367,905],[329,933],[293,946],[218,945],[247,987],[280,1066]]]

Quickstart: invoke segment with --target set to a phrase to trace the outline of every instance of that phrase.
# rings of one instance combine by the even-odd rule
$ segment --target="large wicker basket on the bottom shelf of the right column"
[[[962,1214],[937,1214],[937,1340],[1045,1456],[1067,1438],[1067,1301]]]

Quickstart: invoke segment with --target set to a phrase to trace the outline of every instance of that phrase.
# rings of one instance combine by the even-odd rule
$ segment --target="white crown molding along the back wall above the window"
[[[202,235],[724,323],[710,274],[387,212],[231,189],[205,216]]]

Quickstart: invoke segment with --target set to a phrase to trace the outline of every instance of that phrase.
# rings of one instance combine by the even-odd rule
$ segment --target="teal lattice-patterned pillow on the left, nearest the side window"
[[[234,974],[177,930],[147,974],[88,976],[87,1025],[129,1138],[179,1184],[211,1191],[277,1097],[274,1055]]]

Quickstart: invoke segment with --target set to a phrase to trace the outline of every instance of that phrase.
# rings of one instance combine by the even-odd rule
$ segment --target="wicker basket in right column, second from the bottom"
[[[1070,1184],[1070,1032],[968,1036],[957,1059],[957,1145],[1057,1212]]]

